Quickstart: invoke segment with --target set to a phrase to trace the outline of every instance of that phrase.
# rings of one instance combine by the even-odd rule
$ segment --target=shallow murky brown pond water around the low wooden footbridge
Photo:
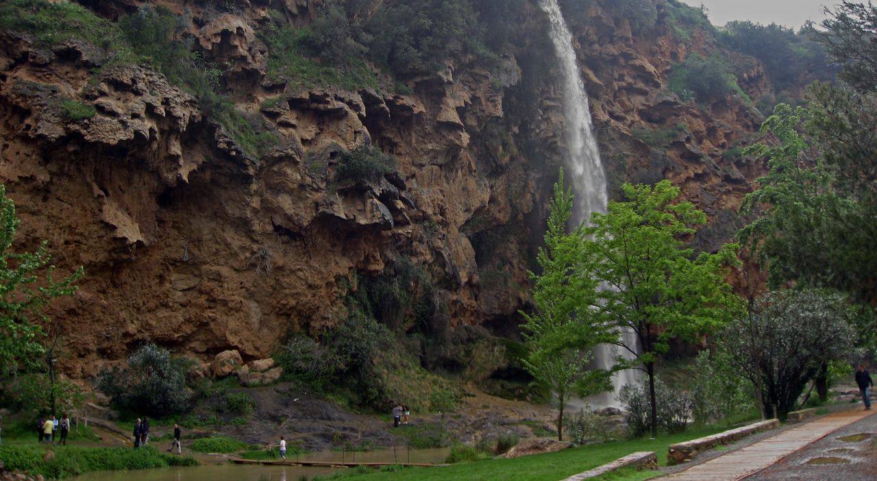
[[[448,448],[439,449],[375,449],[366,452],[320,451],[296,457],[289,461],[319,461],[326,463],[444,463]],[[184,455],[191,453],[183,452]],[[265,466],[260,464],[232,464],[229,456],[194,455],[201,466],[160,468],[136,471],[96,471],[71,478],[73,481],[298,481],[299,477],[330,474],[346,468],[313,468],[305,466]]]

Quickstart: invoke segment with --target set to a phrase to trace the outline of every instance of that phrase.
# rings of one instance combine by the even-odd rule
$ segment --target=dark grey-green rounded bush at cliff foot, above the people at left
[[[97,387],[116,406],[155,417],[189,410],[184,361],[167,349],[145,344],[128,358],[128,366],[103,371]]]

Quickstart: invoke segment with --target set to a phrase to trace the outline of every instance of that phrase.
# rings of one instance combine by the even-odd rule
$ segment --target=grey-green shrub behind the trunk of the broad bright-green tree
[[[625,385],[618,395],[624,405],[624,420],[631,436],[641,436],[652,430],[652,402],[647,385]],[[691,416],[691,394],[673,391],[667,384],[655,380],[655,401],[658,405],[658,427],[669,434],[681,433]]]

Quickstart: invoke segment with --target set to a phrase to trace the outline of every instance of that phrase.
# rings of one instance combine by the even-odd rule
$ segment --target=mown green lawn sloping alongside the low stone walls
[[[409,468],[386,472],[360,474],[341,472],[327,477],[345,481],[448,481],[465,479],[467,481],[552,481],[573,476],[604,463],[636,451],[655,451],[658,462],[667,464],[667,446],[676,442],[688,441],[708,434],[715,434],[727,427],[704,427],[692,429],[681,434],[667,434],[657,439],[640,438],[628,441],[605,442],[581,448],[565,449],[556,453],[524,456],[514,459],[496,458],[473,463],[460,463],[438,468]],[[601,479],[633,481],[646,479],[659,474],[657,471],[622,471]]]

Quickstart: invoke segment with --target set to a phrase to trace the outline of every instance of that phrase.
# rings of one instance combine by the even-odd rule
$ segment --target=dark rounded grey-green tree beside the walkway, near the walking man
[[[730,362],[761,391],[766,418],[785,419],[824,363],[849,353],[846,304],[833,291],[772,291],[720,335]]]

